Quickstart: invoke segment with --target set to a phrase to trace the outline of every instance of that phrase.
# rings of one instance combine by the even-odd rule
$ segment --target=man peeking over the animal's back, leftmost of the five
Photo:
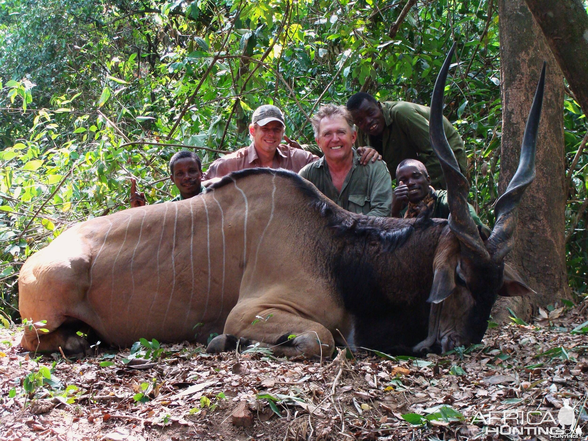
[[[169,202],[182,201],[199,195],[205,190],[202,185],[202,161],[194,152],[182,150],[175,153],[169,160],[169,179],[176,185],[179,195]],[[164,200],[155,202],[162,203]],[[146,205],[145,193],[139,193],[136,189],[136,181],[131,181],[131,208]]]

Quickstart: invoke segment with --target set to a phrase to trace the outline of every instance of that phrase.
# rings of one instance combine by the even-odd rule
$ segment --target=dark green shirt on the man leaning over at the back
[[[369,145],[383,156],[390,175],[396,178],[396,167],[405,159],[417,159],[427,168],[433,188],[447,188],[443,171],[429,139],[430,108],[406,101],[386,101],[382,104],[382,112],[386,127],[382,132],[382,146],[373,136],[358,129],[356,146]],[[466,174],[466,152],[459,133],[449,120],[443,117],[443,128],[449,146],[455,153],[459,168]]]

